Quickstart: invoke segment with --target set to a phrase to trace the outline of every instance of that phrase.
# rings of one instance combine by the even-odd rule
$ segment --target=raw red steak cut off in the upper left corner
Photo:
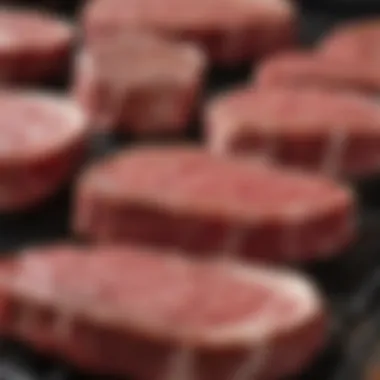
[[[75,29],[48,13],[0,7],[0,82],[45,82],[68,67]]]

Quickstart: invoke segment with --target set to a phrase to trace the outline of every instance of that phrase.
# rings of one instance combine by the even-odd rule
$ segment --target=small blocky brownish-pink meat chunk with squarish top
[[[202,91],[206,57],[196,46],[127,32],[86,45],[73,94],[94,129],[179,135]]]

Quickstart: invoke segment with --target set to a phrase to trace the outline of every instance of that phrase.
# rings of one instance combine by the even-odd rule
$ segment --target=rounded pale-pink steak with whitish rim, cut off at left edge
[[[87,120],[51,93],[0,92],[0,212],[26,210],[68,181],[85,152]]]

